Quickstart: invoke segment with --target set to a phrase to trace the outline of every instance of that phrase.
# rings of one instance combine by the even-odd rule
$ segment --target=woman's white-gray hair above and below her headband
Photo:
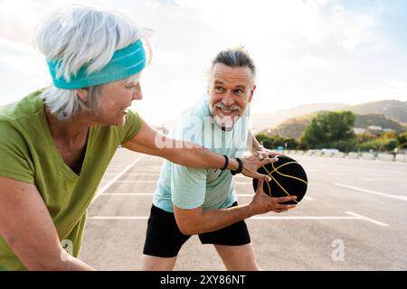
[[[36,48],[50,60],[61,61],[57,78],[67,81],[87,65],[87,72],[105,67],[115,51],[143,39],[147,44],[148,62],[152,51],[147,41],[149,31],[135,26],[124,15],[90,6],[74,5],[50,15],[41,24],[35,38]],[[136,76],[127,81],[136,79]],[[89,88],[88,106],[78,98],[76,89],[57,89],[51,86],[42,94],[44,104],[58,119],[69,119],[81,110],[99,106],[99,95],[106,84]]]

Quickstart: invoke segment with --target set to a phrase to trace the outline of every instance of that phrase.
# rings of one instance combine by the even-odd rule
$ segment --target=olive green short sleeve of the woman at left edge
[[[10,123],[0,121],[0,175],[34,183],[33,161],[23,135]]]

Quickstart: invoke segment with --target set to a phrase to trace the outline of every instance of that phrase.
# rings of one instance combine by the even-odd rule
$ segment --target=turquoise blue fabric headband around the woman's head
[[[87,65],[80,68],[76,75],[71,76],[67,81],[63,77],[57,79],[56,70],[60,61],[51,61],[47,59],[48,68],[52,76],[53,85],[58,89],[82,89],[95,85],[126,79],[146,67],[146,51],[144,51],[141,40],[128,45],[113,54],[112,59],[106,66],[88,74]]]

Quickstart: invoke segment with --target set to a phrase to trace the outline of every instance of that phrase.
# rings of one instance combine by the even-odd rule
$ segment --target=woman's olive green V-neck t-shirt
[[[63,162],[53,143],[41,92],[0,107],[0,175],[35,184],[60,240],[71,241],[72,255],[79,256],[90,202],[118,145],[137,135],[141,118],[128,112],[123,126],[90,127],[78,175]],[[0,270],[24,269],[0,236]]]

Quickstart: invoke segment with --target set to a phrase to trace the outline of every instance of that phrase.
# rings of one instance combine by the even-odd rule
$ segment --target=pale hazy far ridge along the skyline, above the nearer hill
[[[274,114],[253,115],[253,131],[259,133],[268,128],[276,128],[279,124],[292,117],[302,117],[318,111],[349,110],[358,115],[378,114],[397,122],[407,124],[407,101],[383,100],[367,102],[357,106],[342,103],[311,104],[290,109],[279,110]]]

